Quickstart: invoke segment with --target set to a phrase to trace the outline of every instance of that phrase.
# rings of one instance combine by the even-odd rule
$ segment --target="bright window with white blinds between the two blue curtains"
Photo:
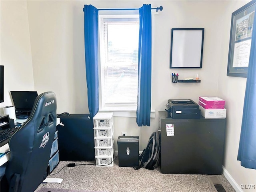
[[[100,105],[134,108],[138,96],[139,16],[100,16]]]

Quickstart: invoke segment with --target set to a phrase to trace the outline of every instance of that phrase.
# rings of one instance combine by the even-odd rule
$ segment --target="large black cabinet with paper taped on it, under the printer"
[[[173,124],[174,136],[167,136]],[[222,174],[225,118],[172,119],[159,112],[161,173]]]

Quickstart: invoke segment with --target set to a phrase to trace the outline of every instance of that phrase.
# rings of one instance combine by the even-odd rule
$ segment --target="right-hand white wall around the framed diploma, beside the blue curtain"
[[[222,44],[220,45],[221,65],[218,72],[218,74],[220,75],[218,78],[217,91],[217,95],[226,100],[227,108],[224,167],[238,184],[238,189],[242,184],[254,184],[254,186],[256,185],[256,170],[244,168],[240,166],[240,161],[236,160],[242,125],[246,78],[226,76],[228,45],[230,36],[230,25],[226,26],[226,23],[230,22],[230,15],[232,14],[232,12],[234,12],[234,10],[237,10],[244,4],[244,2],[240,1],[233,2],[226,8],[226,12],[223,12],[222,14],[223,20],[220,25],[220,28],[223,29]],[[247,190],[244,189],[244,191],[255,192],[256,188]]]

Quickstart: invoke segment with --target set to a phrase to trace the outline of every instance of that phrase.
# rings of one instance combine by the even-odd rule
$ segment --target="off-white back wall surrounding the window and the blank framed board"
[[[28,1],[28,20],[32,49],[35,89],[53,90],[57,95],[58,113],[88,113],[85,59],[84,59],[84,4],[97,8],[140,7],[142,1]],[[148,2],[150,3],[150,2]],[[115,117],[115,139],[122,131],[140,136],[140,149],[150,134],[158,128],[158,111],[164,110],[170,98],[190,98],[215,95],[218,85],[222,20],[216,10],[224,11],[228,2],[154,1],[152,7],[162,5],[164,10],[153,15],[152,43],[152,118],[150,127],[139,128],[136,118]],[[224,6],[223,6],[224,5]],[[230,24],[228,24],[230,25]],[[205,28],[202,69],[170,70],[171,28]],[[213,52],[214,50],[214,52]],[[217,56],[216,56],[217,55]],[[170,74],[179,73],[182,79],[195,77],[198,84],[173,84]],[[49,79],[48,76],[51,78]],[[49,81],[50,80],[50,81]],[[123,122],[127,122],[124,124]],[[116,145],[116,144],[115,144]]]

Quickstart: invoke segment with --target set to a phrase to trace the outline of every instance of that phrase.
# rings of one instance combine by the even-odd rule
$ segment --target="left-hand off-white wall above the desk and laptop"
[[[3,107],[13,105],[10,91],[34,90],[26,1],[0,1],[0,61],[4,65]]]

